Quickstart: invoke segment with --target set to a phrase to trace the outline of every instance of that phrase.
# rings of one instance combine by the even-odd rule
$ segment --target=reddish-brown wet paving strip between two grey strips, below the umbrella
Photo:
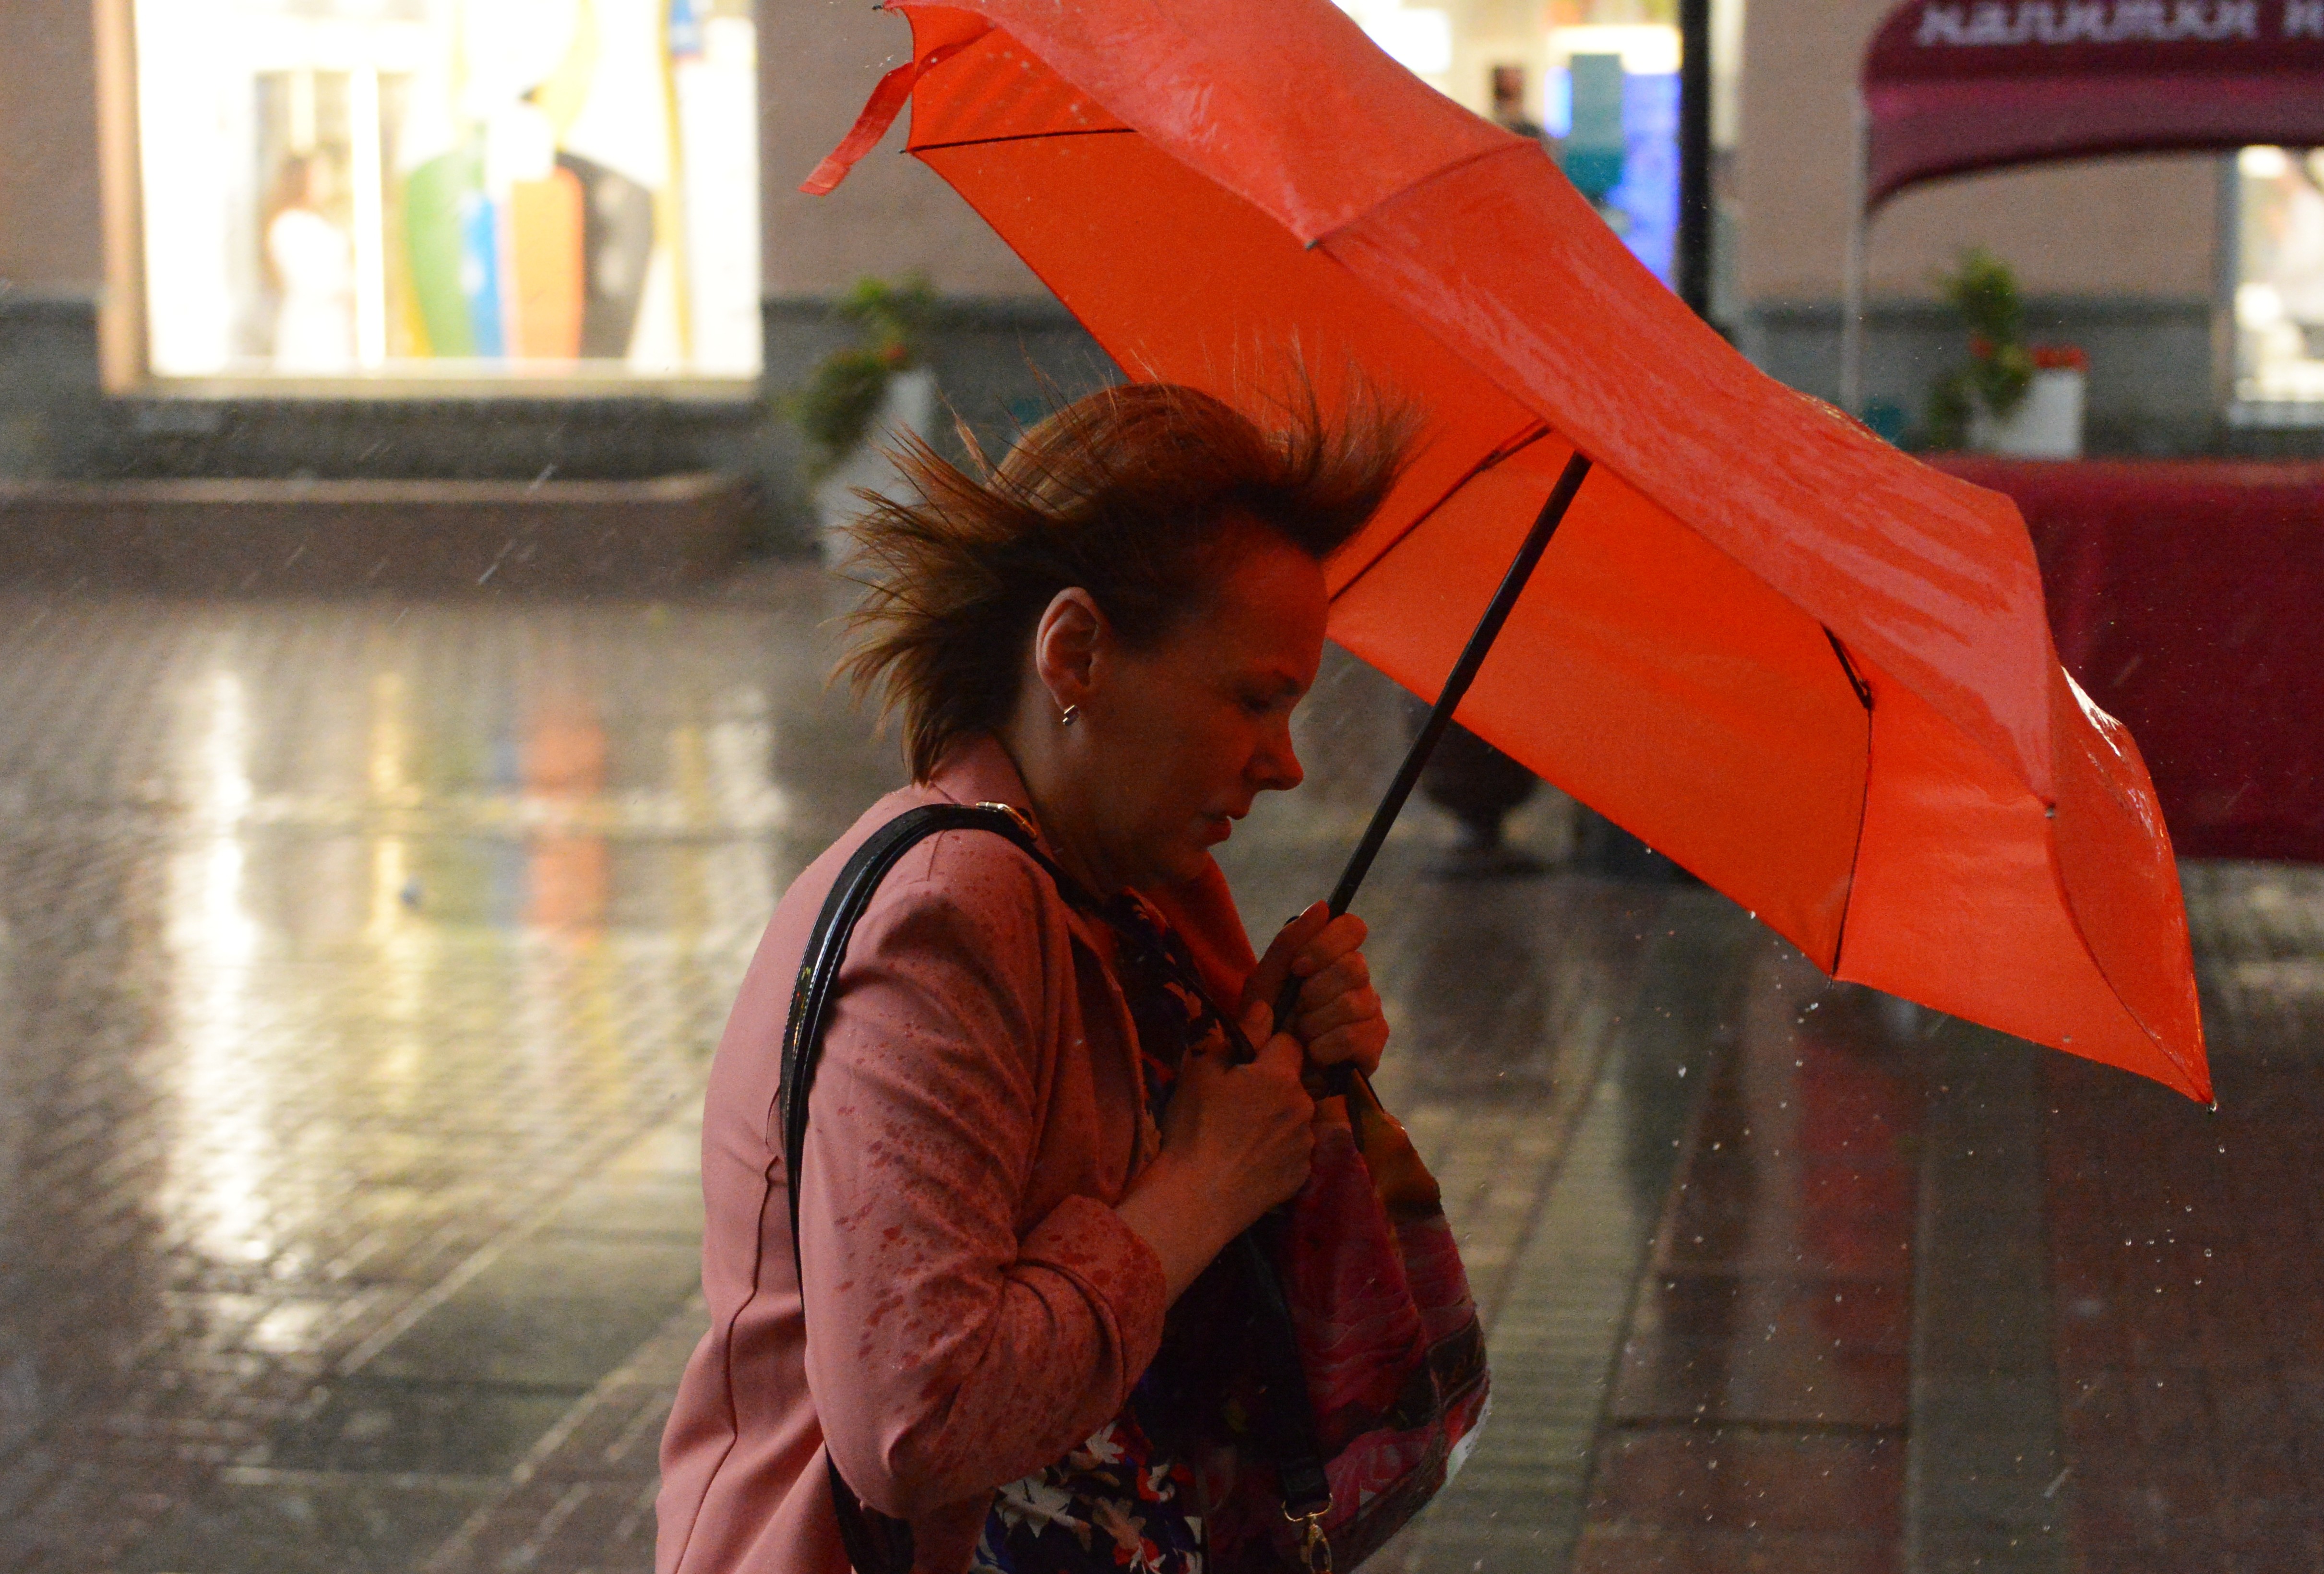
[[[1920,1088],[1864,995],[1752,951],[1599,1432],[1592,1574],[1896,1567]]]

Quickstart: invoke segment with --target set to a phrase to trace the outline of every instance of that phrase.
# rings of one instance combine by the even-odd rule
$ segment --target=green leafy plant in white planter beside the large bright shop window
[[[862,511],[858,493],[895,495],[904,486],[883,444],[934,430],[937,374],[925,365],[934,314],[937,291],[918,274],[858,279],[839,300],[858,342],[818,360],[790,400],[792,418],[816,446],[816,537],[825,560],[841,553],[844,532]]]

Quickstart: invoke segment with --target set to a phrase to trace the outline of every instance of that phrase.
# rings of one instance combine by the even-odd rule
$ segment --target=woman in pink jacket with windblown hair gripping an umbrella
[[[662,1439],[660,1574],[841,1574],[830,1465],[930,1574],[1050,1574],[1067,1541],[1202,1567],[1185,1472],[1125,1516],[1076,1469],[1136,1437],[1171,1302],[1304,1181],[1304,1065],[1369,1072],[1387,1042],[1362,921],[1315,904],[1255,960],[1211,860],[1299,784],[1320,560],[1401,458],[1380,416],[1292,425],[1113,388],[981,477],[916,451],[920,500],[860,525],[851,667],[902,711],[913,786],[783,895],[711,1067],[711,1330]],[[1067,881],[988,832],[888,874],[792,1169],[776,1060],[809,928],[848,853],[927,802],[1011,804]],[[1271,1035],[1287,974],[1297,1021]],[[1257,1060],[1229,1065],[1204,997]]]

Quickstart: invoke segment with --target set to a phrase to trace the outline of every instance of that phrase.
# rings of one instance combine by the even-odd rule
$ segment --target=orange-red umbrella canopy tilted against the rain
[[[1141,379],[1250,407],[1299,346],[1429,439],[1327,565],[1434,697],[1576,449],[1459,709],[1841,979],[2210,1095],[2138,751],[2057,663],[2015,507],[1750,367],[1538,144],[1329,0],[902,0],[911,151]],[[1255,409],[1253,414],[1262,414]]]

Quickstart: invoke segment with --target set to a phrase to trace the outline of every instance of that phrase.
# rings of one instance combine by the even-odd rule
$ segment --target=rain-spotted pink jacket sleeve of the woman
[[[937,837],[839,979],[797,1179],[806,1383],[848,1486],[897,1518],[1062,1458],[1162,1339],[1162,1265],[1111,1207],[1067,1197],[1018,1235],[1067,988],[1046,979],[1071,967],[1053,902],[1006,842]]]

